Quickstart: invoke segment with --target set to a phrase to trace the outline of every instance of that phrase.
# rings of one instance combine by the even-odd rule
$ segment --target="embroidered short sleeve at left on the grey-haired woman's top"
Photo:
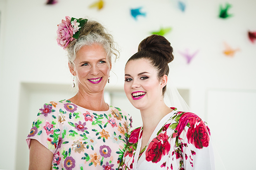
[[[32,128],[26,138],[28,147],[30,147],[31,139],[35,139],[54,154],[58,146],[60,131],[57,113],[51,103],[46,103],[39,109],[36,120],[32,123]]]

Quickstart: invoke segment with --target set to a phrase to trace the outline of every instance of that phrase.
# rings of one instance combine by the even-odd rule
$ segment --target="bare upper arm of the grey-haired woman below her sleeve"
[[[31,139],[28,170],[50,170],[53,154],[37,140]]]

